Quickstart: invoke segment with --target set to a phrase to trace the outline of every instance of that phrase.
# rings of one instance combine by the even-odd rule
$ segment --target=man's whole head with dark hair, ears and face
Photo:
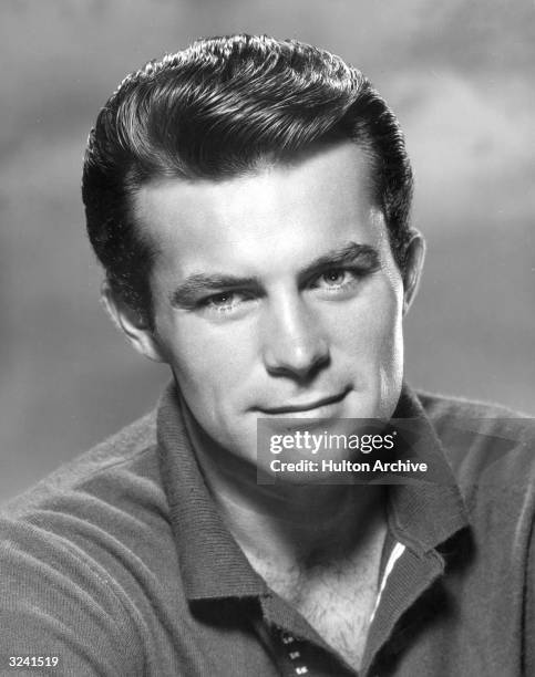
[[[398,124],[363,76],[267,38],[127,77],[84,171],[109,310],[249,460],[259,416],[392,415],[422,262],[410,196]]]

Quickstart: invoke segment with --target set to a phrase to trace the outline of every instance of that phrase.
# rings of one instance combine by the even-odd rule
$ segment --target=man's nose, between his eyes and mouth
[[[330,362],[322,324],[297,294],[269,305],[263,330],[264,364],[272,376],[309,381]]]

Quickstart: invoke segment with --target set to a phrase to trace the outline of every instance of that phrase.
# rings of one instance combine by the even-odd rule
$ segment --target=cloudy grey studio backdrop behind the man
[[[397,111],[429,257],[408,375],[535,414],[533,0],[4,0],[0,8],[0,500],[154,403],[166,369],[99,304],[84,142],[131,70],[200,35],[299,38]]]

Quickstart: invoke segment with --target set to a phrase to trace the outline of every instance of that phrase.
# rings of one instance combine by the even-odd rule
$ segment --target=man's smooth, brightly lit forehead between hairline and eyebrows
[[[384,248],[371,196],[368,160],[348,142],[230,179],[148,184],[134,196],[134,213],[156,248],[156,268],[185,275],[301,264],[348,241]]]

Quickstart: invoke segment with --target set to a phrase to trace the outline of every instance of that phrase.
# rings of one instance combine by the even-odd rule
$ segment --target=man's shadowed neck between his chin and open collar
[[[384,488],[372,485],[260,485],[256,467],[225,452],[184,406],[186,427],[208,489],[250,559],[300,570],[363,556],[384,530]]]

